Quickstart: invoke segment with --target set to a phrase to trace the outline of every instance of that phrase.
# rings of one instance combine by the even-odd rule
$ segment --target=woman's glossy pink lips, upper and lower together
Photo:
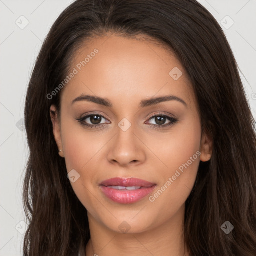
[[[139,189],[114,189],[108,186],[141,186]],[[114,202],[129,204],[134,203],[150,194],[156,184],[138,178],[110,178],[100,183],[101,191]]]

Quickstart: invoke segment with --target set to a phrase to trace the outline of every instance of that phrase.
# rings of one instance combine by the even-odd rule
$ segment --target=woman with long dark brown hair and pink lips
[[[195,0],[74,1],[25,126],[24,255],[255,255],[254,119]]]

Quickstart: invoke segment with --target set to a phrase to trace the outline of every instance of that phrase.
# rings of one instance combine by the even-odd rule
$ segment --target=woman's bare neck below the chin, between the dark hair
[[[161,216],[159,216],[160,218]],[[188,255],[184,249],[184,206],[161,225],[139,233],[115,232],[97,222],[88,213],[91,238],[86,245],[86,256],[107,255]]]

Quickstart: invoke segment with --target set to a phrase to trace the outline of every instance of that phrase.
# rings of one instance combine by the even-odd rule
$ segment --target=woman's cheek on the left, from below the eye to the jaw
[[[98,209],[99,205],[93,196],[93,180],[95,178],[99,151],[105,144],[101,139],[96,139],[93,132],[86,132],[82,126],[68,120],[62,120],[61,136],[65,154],[66,169],[69,173],[75,170],[79,178],[70,184],[84,207],[90,212]],[[96,134],[96,133],[94,133]],[[77,175],[77,174],[76,174]]]

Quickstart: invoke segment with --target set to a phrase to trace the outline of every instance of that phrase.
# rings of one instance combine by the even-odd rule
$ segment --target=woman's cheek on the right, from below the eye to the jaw
[[[188,122],[189,123],[189,122]],[[201,128],[199,120],[173,128],[172,134],[159,137],[155,152],[161,161],[158,190],[149,198],[155,209],[165,212],[161,218],[175,214],[185,203],[194,185],[200,162]],[[160,146],[164,145],[164,146]],[[152,145],[151,145],[152,146]],[[156,164],[156,163],[154,163]],[[159,216],[160,218],[160,216]]]

